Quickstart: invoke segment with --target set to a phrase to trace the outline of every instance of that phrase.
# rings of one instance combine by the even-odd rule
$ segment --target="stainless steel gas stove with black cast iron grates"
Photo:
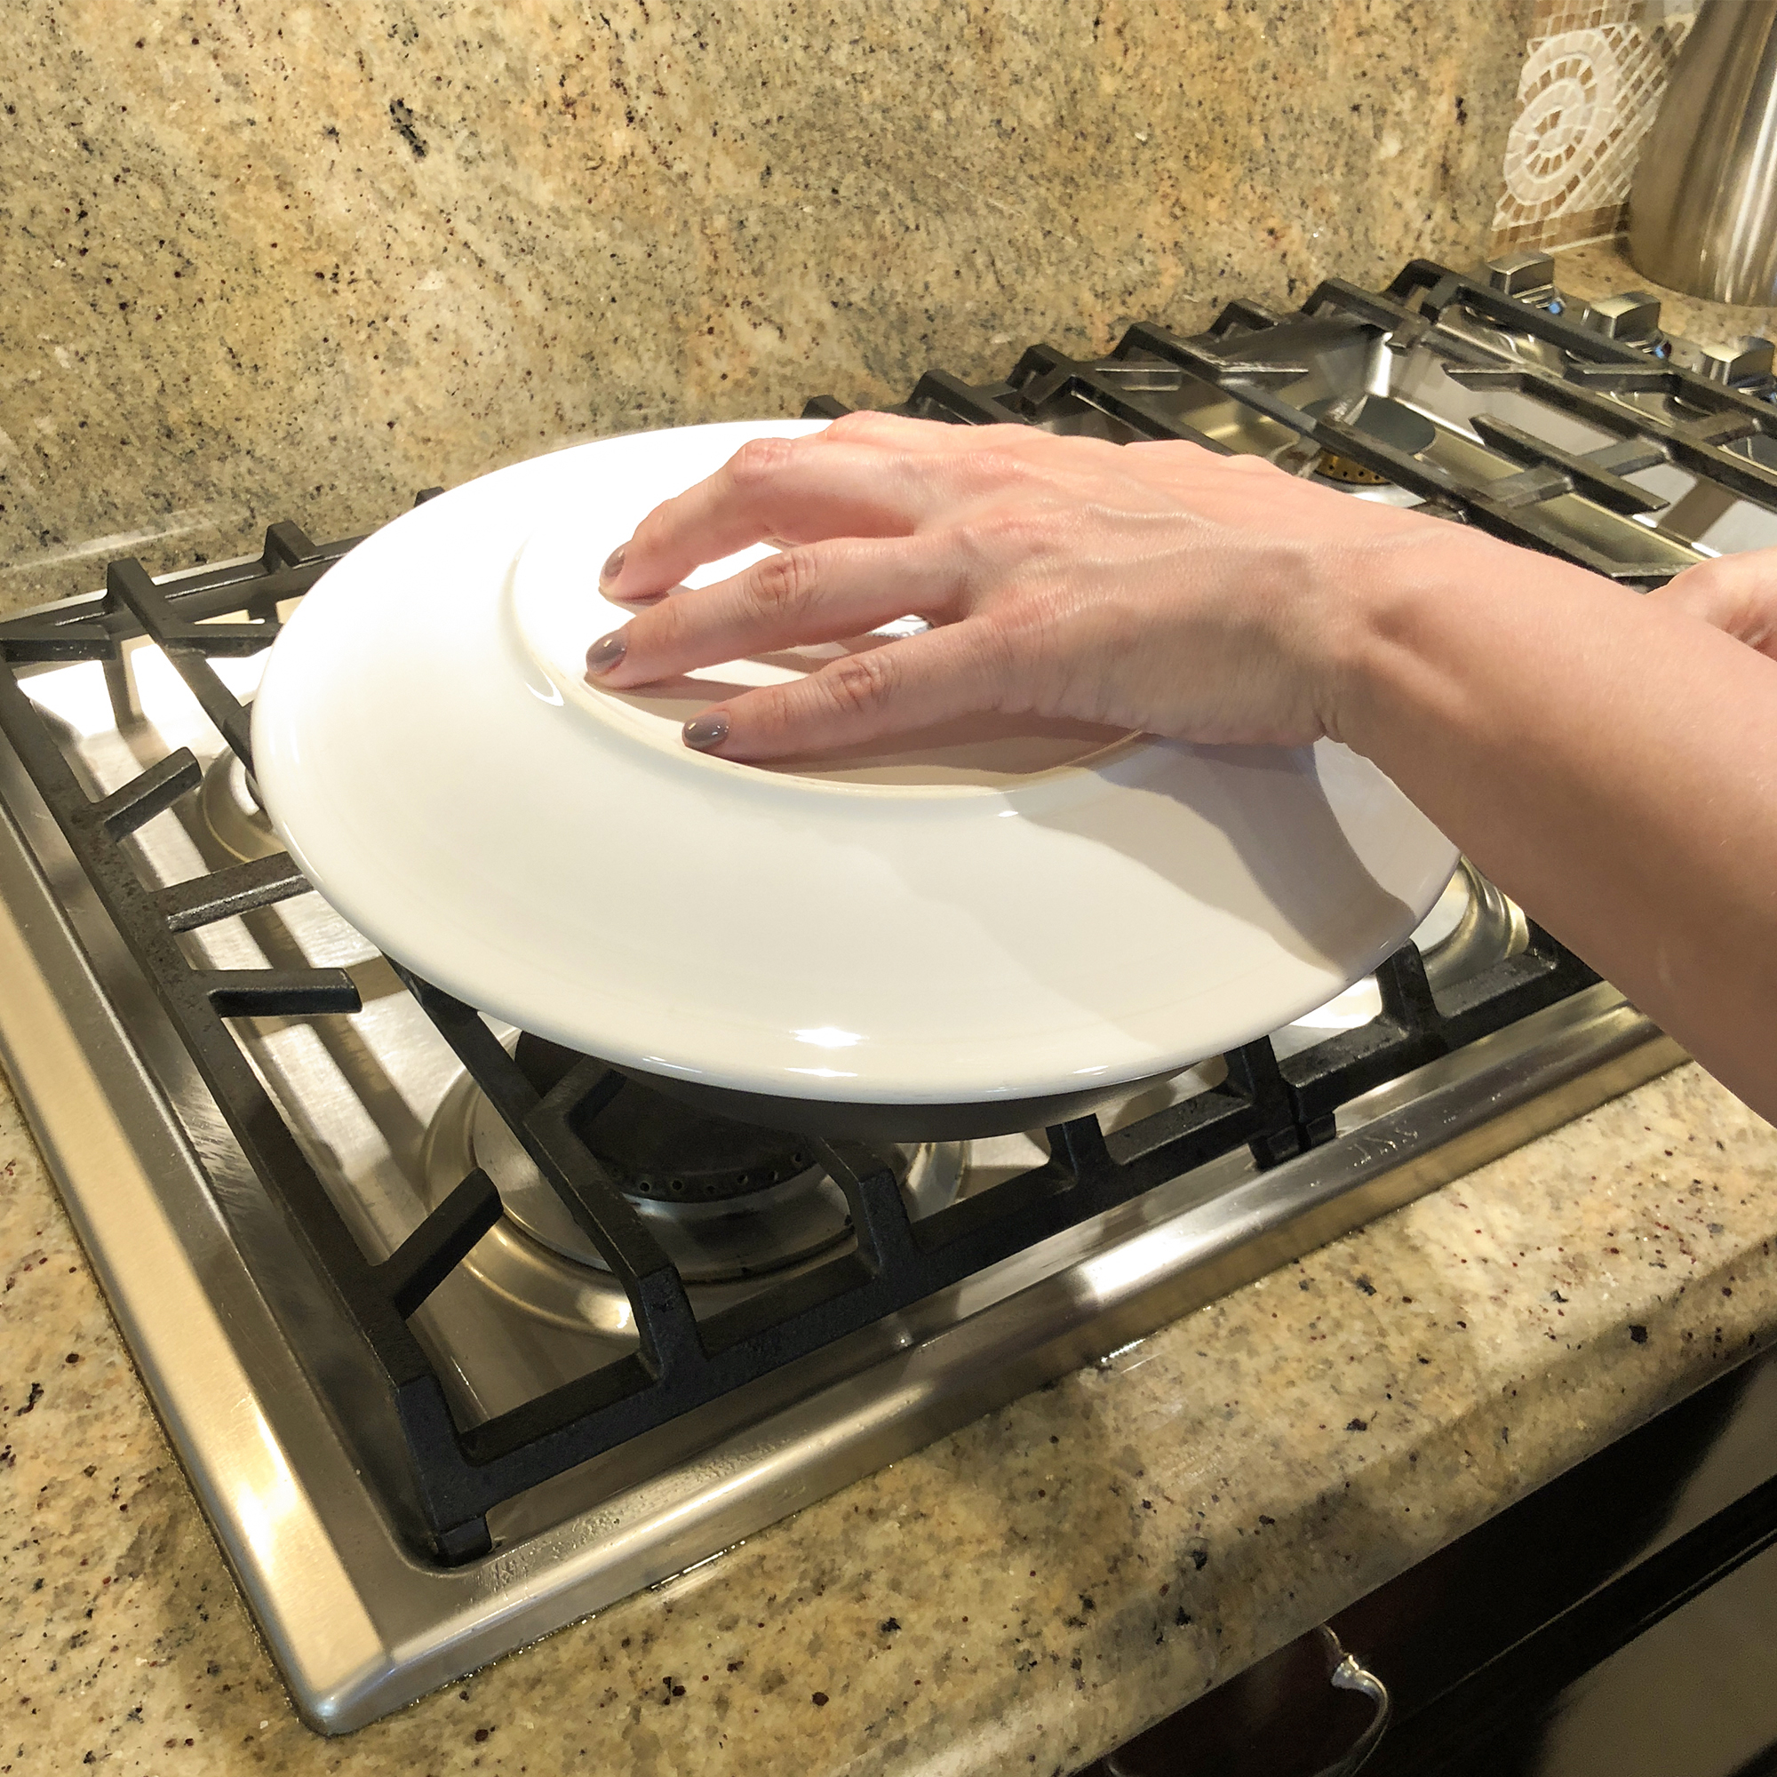
[[[1770,348],[1542,272],[1416,261],[899,410],[1256,451],[1635,586],[1777,542]],[[275,524],[0,624],[0,1052],[322,1731],[1681,1059],[1464,865],[1374,979],[1093,1118],[865,1146],[697,1116],[403,972],[283,853],[247,704],[350,547]]]

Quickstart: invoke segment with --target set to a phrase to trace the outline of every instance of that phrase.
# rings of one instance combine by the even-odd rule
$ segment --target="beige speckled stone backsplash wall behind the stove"
[[[11,0],[0,611],[1480,256],[1528,0]]]

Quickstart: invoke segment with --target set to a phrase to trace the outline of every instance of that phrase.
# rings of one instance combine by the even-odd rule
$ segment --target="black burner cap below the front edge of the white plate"
[[[519,1038],[517,1063],[540,1093],[581,1059],[540,1036]],[[633,1079],[626,1079],[597,1114],[576,1118],[574,1134],[618,1189],[677,1203],[743,1198],[814,1166],[801,1136],[693,1111]]]

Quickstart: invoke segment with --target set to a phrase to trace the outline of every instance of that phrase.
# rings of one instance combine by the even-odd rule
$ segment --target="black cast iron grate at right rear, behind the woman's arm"
[[[1482,444],[1514,473],[1475,476],[1409,448],[1413,439],[1402,435],[1398,423],[1365,425],[1370,402],[1363,389],[1343,400],[1295,407],[1279,391],[1310,377],[1303,347],[1317,323],[1367,327],[1395,355],[1413,352],[1438,329],[1438,355],[1462,389],[1523,396],[1550,419],[1578,421],[1610,442],[1569,450],[1477,414],[1471,425]],[[1502,363],[1496,348],[1473,336],[1473,323],[1502,338],[1518,334],[1542,343],[1553,348],[1562,368],[1557,371],[1528,355]],[[983,387],[933,370],[892,410],[963,425],[1091,432],[1120,442],[1185,439],[1228,453],[1228,444],[1189,418],[1198,410],[1194,396],[1205,389],[1274,426],[1278,439],[1294,437],[1297,442],[1278,455],[1287,467],[1308,473],[1331,457],[1347,471],[1363,471],[1367,480],[1418,496],[1439,517],[1473,524],[1526,549],[1566,556],[1635,586],[1663,585],[1676,569],[1658,556],[1624,560],[1601,549],[1564,526],[1551,503],[1578,494],[1619,521],[1644,519],[1670,501],[1630,476],[1670,464],[1756,506],[1777,510],[1777,412],[1772,407],[1777,379],[1768,368],[1736,382],[1715,380],[1670,363],[1660,336],[1612,338],[1429,259],[1411,261],[1381,293],[1327,279],[1294,316],[1272,315],[1253,302],[1230,302],[1210,331],[1192,339],[1137,322],[1107,359],[1088,363],[1052,347],[1032,347],[1006,382]],[[817,396],[805,416],[832,419],[846,410],[832,396]],[[1560,434],[1571,426],[1553,430]],[[1345,478],[1354,476],[1347,473]]]

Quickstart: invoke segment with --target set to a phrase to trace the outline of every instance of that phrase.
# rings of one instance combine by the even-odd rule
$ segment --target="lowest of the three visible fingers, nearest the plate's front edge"
[[[825,753],[1002,707],[1006,691],[993,629],[972,618],[716,704],[686,723],[686,745],[743,761]]]

